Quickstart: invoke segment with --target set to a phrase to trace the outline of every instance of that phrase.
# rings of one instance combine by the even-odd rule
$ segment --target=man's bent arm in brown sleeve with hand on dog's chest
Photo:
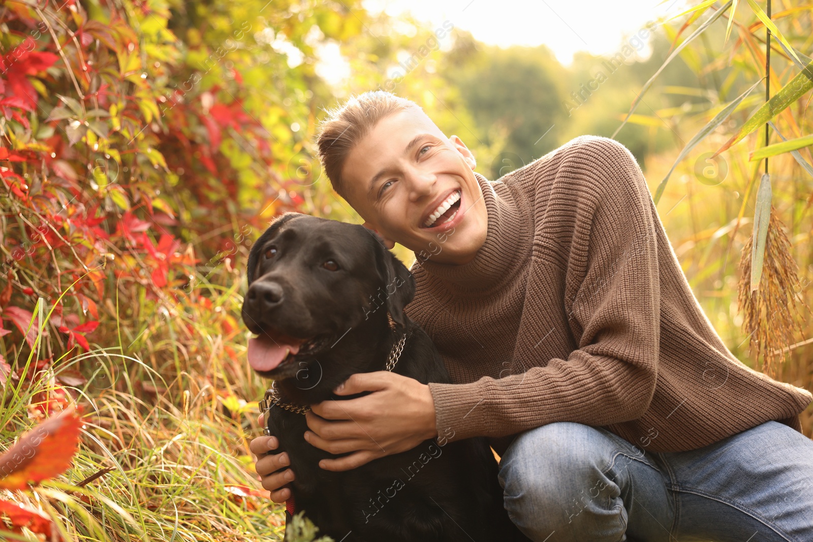
[[[324,401],[307,414],[311,444],[353,452],[320,466],[352,469],[433,436],[446,444],[555,421],[605,425],[646,411],[659,351],[654,209],[628,150],[607,140],[580,145],[584,153],[573,159],[587,160],[592,173],[582,183],[578,205],[589,219],[568,266],[575,293],[565,300],[579,348],[567,360],[554,358],[521,375],[471,384],[427,386],[386,371],[353,375],[338,393],[372,393],[341,405]],[[542,337],[550,330],[539,331]]]

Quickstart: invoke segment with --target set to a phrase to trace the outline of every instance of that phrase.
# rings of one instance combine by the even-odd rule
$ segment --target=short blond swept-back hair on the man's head
[[[347,199],[341,170],[350,151],[380,119],[411,107],[420,110],[420,106],[411,100],[375,90],[354,96],[343,106],[328,111],[328,116],[320,124],[316,147],[324,173],[341,197]]]

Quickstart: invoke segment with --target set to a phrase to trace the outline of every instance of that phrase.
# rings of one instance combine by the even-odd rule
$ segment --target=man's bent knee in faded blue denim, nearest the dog
[[[620,540],[627,515],[620,488],[604,472],[607,450],[606,436],[580,423],[517,436],[499,470],[511,520],[532,540],[552,531],[563,535],[558,540]]]

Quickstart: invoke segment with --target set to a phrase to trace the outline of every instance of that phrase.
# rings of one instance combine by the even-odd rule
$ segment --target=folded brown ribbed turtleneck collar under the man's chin
[[[517,201],[518,194],[501,180],[489,181],[476,172],[474,176],[488,213],[485,243],[463,265],[433,262],[432,258],[420,263],[428,275],[459,293],[482,292],[510,280],[523,267],[533,245],[533,217],[520,211],[524,202]]]

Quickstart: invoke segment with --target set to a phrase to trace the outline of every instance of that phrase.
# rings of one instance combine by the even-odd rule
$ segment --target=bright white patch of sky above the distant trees
[[[696,3],[696,2],[694,2]],[[659,5],[660,4],[660,5]],[[560,63],[586,50],[608,54],[659,16],[686,9],[686,0],[365,0],[369,11],[400,15],[410,11],[427,28],[445,21],[478,40],[497,46],[538,46],[553,50]]]

